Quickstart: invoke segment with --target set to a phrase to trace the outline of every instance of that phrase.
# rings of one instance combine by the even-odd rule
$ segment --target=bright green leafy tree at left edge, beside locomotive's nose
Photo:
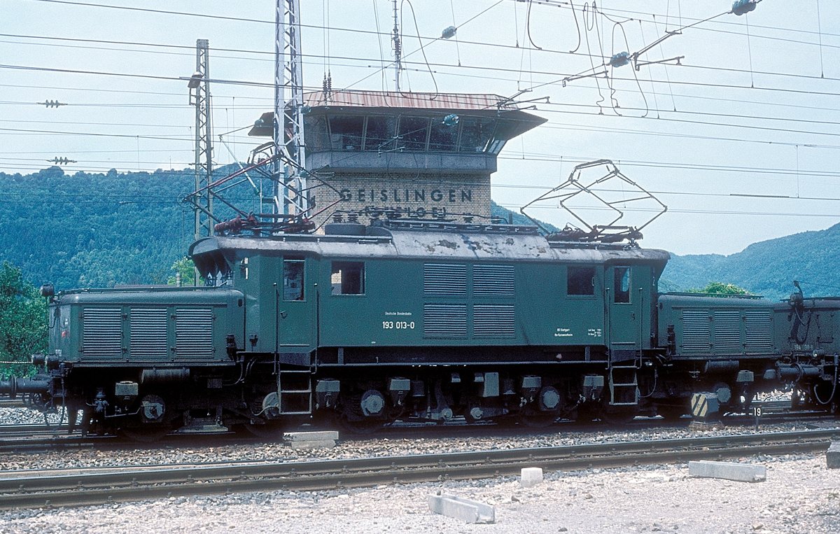
[[[8,261],[0,267],[0,360],[27,362],[47,345],[46,302],[22,271]],[[28,374],[31,367],[3,364],[0,374]]]

